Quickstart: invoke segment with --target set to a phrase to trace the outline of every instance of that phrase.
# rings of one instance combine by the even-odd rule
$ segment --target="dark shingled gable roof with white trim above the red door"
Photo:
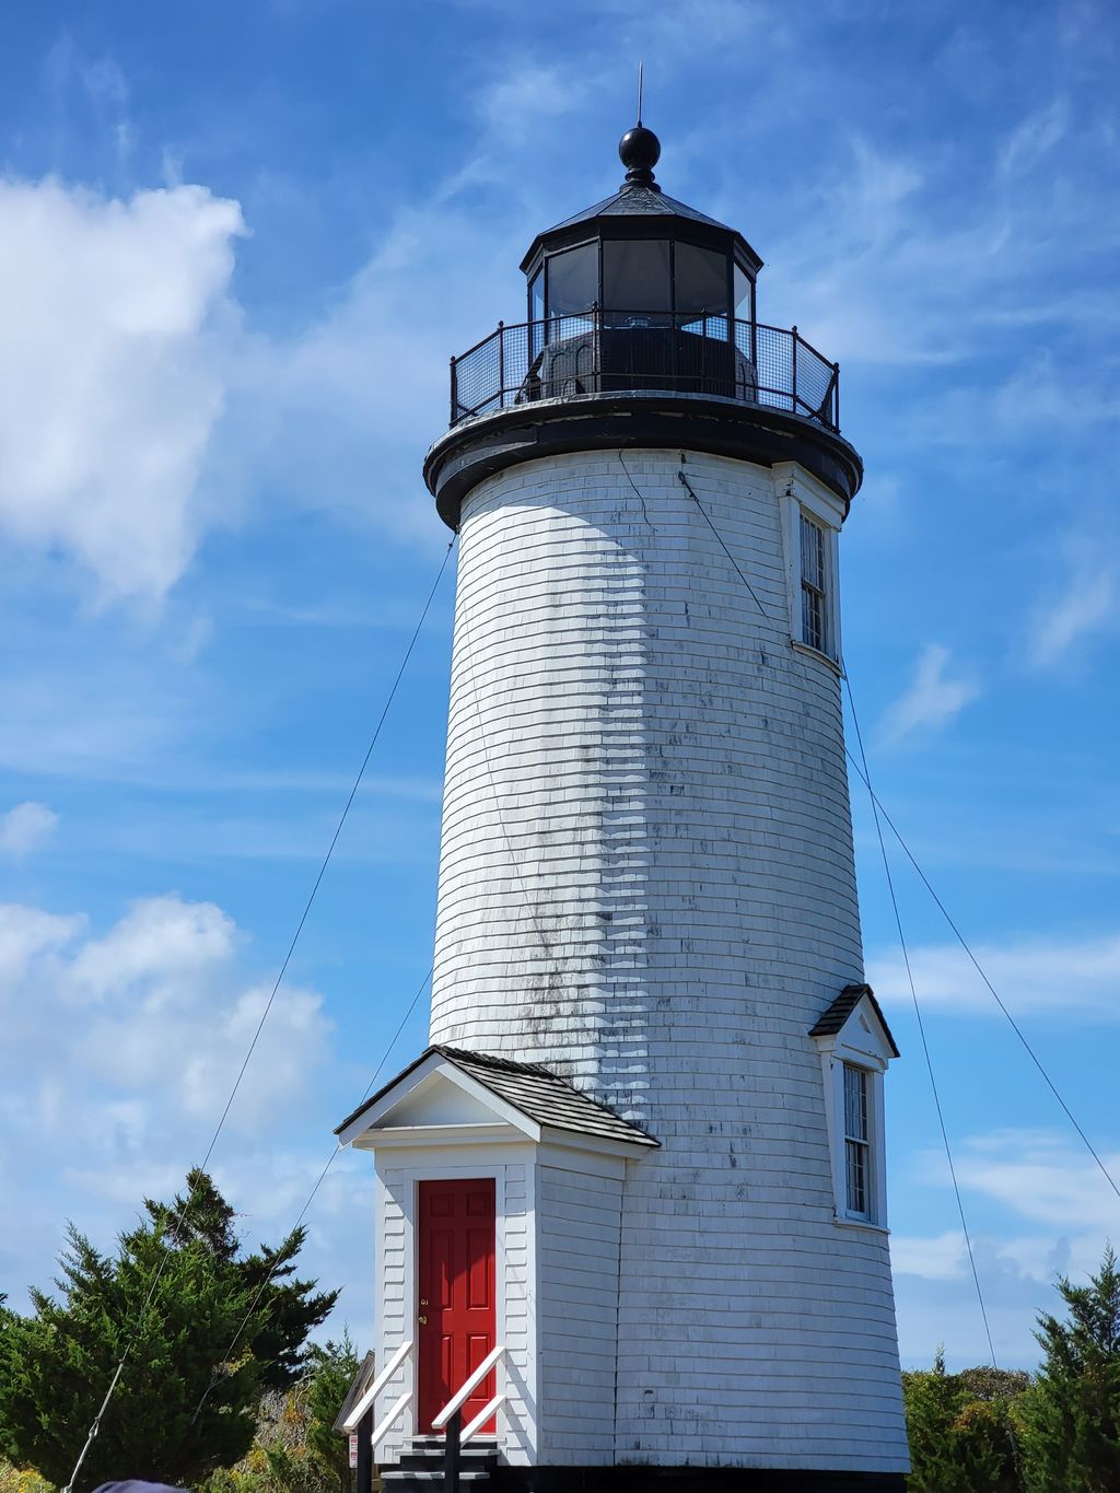
[[[466,1053],[455,1047],[429,1047],[420,1057],[397,1073],[384,1088],[366,1099],[335,1129],[340,1135],[381,1099],[397,1087],[409,1073],[430,1057],[442,1057],[452,1063],[467,1078],[482,1084],[499,1099],[520,1109],[536,1124],[551,1130],[572,1130],[578,1135],[599,1136],[605,1141],[627,1141],[632,1145],[660,1147],[660,1141],[641,1126],[623,1120],[609,1105],[581,1093],[566,1078],[560,1078],[541,1063],[515,1063],[508,1057],[491,1057],[488,1053]]]

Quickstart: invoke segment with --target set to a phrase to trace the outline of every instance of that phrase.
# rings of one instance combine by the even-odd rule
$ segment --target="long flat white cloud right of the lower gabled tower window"
[[[1120,1020],[1120,935],[1093,939],[1020,939],[1011,944],[981,944],[974,950],[1001,1000],[1015,1015],[1038,1014],[1063,1021],[1077,1017]],[[914,984],[923,1006],[938,1006],[962,1015],[998,1017],[987,985],[957,944],[932,944],[909,950]],[[899,956],[869,961],[869,978],[887,1002],[908,1000],[909,982]]]

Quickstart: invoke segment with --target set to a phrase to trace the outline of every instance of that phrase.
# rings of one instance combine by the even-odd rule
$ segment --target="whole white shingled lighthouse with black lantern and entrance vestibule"
[[[424,467],[460,543],[432,1045],[339,1127],[376,1163],[376,1459],[415,1483],[451,1424],[499,1489],[900,1490],[862,463],[757,254],[650,130],[620,154]]]

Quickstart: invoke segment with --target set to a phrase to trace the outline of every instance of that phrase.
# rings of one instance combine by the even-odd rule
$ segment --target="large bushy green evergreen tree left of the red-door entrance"
[[[30,1317],[0,1309],[0,1453],[16,1465],[67,1481],[130,1342],[79,1490],[116,1478],[190,1487],[230,1466],[252,1441],[261,1388],[299,1372],[308,1330],[336,1299],[291,1278],[302,1233],[242,1259],[211,1178],[194,1172],[190,1185],[190,1212],[185,1197],[149,1200],[149,1221],[121,1235],[115,1257],[67,1226],[57,1296],[33,1290]]]

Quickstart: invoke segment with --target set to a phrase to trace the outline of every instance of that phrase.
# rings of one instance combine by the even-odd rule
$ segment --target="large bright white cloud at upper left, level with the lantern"
[[[205,526],[237,203],[0,181],[0,526],[158,599]]]

